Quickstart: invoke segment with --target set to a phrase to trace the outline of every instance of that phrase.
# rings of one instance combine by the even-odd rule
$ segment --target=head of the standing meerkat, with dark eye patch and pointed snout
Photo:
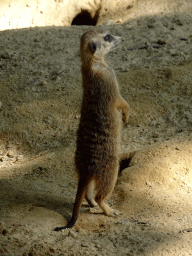
[[[103,60],[104,55],[117,48],[123,37],[111,35],[104,30],[91,30],[81,37],[81,58],[85,60]]]

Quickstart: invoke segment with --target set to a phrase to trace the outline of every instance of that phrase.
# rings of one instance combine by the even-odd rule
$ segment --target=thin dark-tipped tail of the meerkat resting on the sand
[[[81,178],[79,179],[77,195],[76,195],[76,199],[75,199],[75,203],[74,203],[74,207],[73,207],[72,217],[66,226],[56,227],[54,229],[54,231],[59,231],[59,230],[66,229],[66,228],[72,228],[75,225],[78,215],[79,215],[79,212],[80,212],[80,209],[81,209],[81,205],[83,203],[83,199],[85,197],[85,193],[87,191],[87,188],[88,188],[88,185],[90,182],[91,182],[90,180],[84,181],[83,179],[81,180]]]

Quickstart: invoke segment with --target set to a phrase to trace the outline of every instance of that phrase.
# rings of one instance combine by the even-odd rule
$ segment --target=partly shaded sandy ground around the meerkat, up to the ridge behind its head
[[[124,36],[107,56],[130,104],[109,218],[84,202],[72,230],[80,36],[45,27],[0,37],[0,255],[192,255],[192,27],[151,16],[106,27]]]

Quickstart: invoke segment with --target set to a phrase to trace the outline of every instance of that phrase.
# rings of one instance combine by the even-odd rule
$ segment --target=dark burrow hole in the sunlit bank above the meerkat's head
[[[96,26],[98,19],[99,11],[96,12],[95,16],[92,18],[88,11],[80,12],[72,21],[71,25],[76,26]]]

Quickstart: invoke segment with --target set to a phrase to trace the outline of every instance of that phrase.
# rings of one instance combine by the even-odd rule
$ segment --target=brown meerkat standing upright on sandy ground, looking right
[[[123,41],[101,29],[81,37],[83,101],[75,154],[79,182],[72,217],[56,231],[74,226],[84,197],[90,207],[99,205],[105,215],[118,215],[105,199],[112,193],[118,176],[122,123],[119,110],[127,123],[129,105],[121,97],[115,73],[104,56]]]

